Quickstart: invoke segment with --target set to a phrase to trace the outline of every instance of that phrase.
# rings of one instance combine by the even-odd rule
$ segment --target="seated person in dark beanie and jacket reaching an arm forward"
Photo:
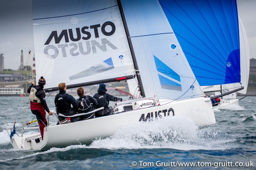
[[[98,105],[95,108],[104,107],[103,110],[95,112],[96,117],[113,114],[113,108],[108,107],[109,101],[123,101],[122,98],[118,98],[106,93],[107,91],[106,85],[104,83],[100,83],[98,93],[95,93],[93,96],[93,98],[98,101]]]

